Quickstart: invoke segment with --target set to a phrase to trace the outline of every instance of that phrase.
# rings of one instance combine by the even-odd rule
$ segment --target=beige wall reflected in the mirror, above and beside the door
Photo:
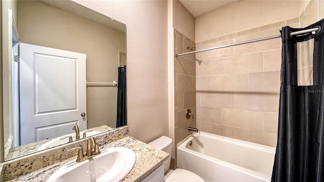
[[[19,1],[20,41],[87,55],[87,80],[118,80],[119,51],[126,52],[126,35],[70,12],[36,1]],[[68,31],[66,31],[68,30]],[[88,87],[88,128],[116,126],[117,87]]]

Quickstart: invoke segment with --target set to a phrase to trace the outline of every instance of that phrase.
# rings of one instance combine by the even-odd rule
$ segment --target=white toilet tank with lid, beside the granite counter
[[[164,173],[170,168],[171,155],[172,155],[172,139],[167,136],[161,136],[160,138],[150,142],[148,145],[158,148],[159,150],[167,152],[170,156],[164,162]]]

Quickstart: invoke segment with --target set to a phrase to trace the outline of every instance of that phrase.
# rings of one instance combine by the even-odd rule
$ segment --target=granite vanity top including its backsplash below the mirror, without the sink
[[[129,136],[128,126],[98,134],[93,138],[98,141],[100,150],[124,147],[134,151],[135,165],[122,181],[149,181],[148,179],[154,179],[156,175],[163,177],[163,162],[169,158],[169,154]],[[86,143],[86,139],[80,140],[76,144],[66,144],[49,149],[43,154],[36,153],[4,162],[0,166],[1,181],[46,181],[60,167],[70,161],[75,161],[77,150],[67,152],[68,149],[74,146],[83,146],[85,149]],[[50,155],[45,154],[46,152]]]

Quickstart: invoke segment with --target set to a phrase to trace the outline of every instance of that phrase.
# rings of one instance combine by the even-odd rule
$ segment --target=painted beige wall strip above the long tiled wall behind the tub
[[[299,1],[239,1],[197,17],[195,41],[293,19],[299,15]]]

